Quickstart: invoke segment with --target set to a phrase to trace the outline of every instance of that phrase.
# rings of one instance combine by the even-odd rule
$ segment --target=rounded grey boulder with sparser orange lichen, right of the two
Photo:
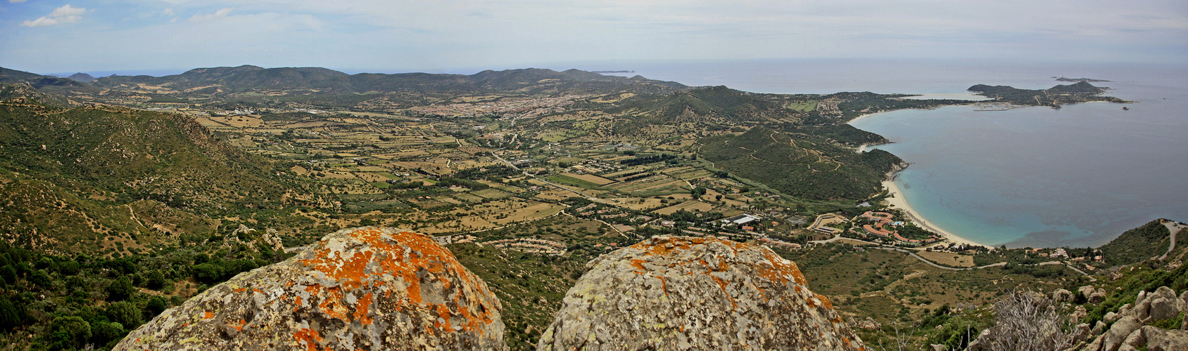
[[[587,263],[538,350],[864,350],[763,245],[658,236]]]

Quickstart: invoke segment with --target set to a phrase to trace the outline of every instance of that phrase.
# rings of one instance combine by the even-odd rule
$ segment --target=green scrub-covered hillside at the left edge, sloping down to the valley
[[[296,186],[192,119],[0,103],[0,228],[37,250],[128,253],[207,236],[202,218],[277,209]]]

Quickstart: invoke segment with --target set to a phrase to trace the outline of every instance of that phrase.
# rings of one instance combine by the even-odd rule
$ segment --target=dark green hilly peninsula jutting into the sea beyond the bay
[[[966,89],[979,92],[979,95],[993,98],[990,102],[1010,103],[1018,106],[1047,106],[1060,108],[1063,104],[1107,101],[1129,103],[1113,96],[1101,96],[1104,88],[1094,87],[1087,82],[1075,84],[1056,85],[1043,90],[1018,89],[1009,85],[978,84]]]

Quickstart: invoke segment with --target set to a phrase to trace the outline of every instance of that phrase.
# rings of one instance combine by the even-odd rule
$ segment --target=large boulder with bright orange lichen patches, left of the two
[[[432,237],[358,228],[165,311],[115,350],[503,350],[500,309]]]

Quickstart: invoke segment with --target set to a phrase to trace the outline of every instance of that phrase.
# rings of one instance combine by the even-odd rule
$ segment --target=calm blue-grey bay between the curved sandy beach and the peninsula
[[[1100,84],[1139,102],[899,110],[851,125],[912,164],[896,183],[914,209],[979,243],[1099,245],[1151,219],[1188,221],[1188,89]]]

